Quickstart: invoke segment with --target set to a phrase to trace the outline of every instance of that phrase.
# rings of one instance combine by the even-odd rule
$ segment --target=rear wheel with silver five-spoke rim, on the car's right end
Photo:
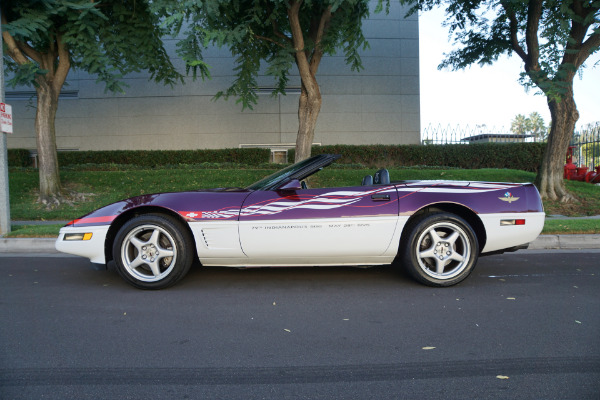
[[[451,213],[424,214],[407,227],[400,259],[408,272],[428,286],[452,286],[477,264],[479,242],[471,226]]]

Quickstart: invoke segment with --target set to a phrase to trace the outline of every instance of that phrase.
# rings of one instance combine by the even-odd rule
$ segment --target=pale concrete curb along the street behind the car
[[[0,238],[0,253],[58,253],[53,238]],[[600,249],[600,234],[540,235],[529,244],[529,250]]]

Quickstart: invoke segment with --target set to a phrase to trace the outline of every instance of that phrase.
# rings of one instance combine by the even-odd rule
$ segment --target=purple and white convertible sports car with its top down
[[[390,182],[382,169],[357,186],[306,186],[337,158],[317,155],[244,189],[119,201],[67,224],[56,248],[114,260],[142,289],[173,285],[195,259],[227,267],[397,264],[426,285],[450,286],[479,255],[525,248],[544,225],[532,184]]]

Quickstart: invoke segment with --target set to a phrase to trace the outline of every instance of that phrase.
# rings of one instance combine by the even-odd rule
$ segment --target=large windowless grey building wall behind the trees
[[[324,57],[317,80],[323,105],[315,143],[418,144],[419,36],[417,16],[392,2],[390,13],[371,13],[364,33],[371,48],[362,52],[365,69],[352,72],[343,55]],[[165,40],[169,54],[175,41]],[[72,71],[63,87],[56,118],[59,150],[232,148],[244,145],[293,144],[298,131],[300,79],[292,76],[286,96],[271,97],[272,78],[260,77],[259,103],[241,111],[234,99],[213,100],[234,79],[227,49],[209,49],[205,61],[212,80],[173,88],[148,81],[146,74],[127,76],[125,94],[104,92],[104,84]],[[181,60],[174,59],[184,71]],[[9,148],[35,149],[35,91],[8,89],[14,134]]]

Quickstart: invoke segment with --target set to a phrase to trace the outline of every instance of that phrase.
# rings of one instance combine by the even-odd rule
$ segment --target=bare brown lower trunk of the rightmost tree
[[[544,199],[568,202],[572,196],[567,192],[563,179],[563,167],[569,142],[573,137],[579,112],[573,97],[573,86],[561,99],[549,100],[552,127],[544,152],[542,165],[536,177],[536,186]]]

